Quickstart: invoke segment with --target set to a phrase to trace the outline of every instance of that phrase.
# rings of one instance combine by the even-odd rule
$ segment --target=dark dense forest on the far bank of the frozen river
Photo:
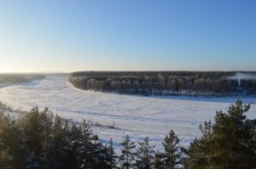
[[[256,79],[236,79],[233,71],[80,71],[74,87],[143,95],[255,96]],[[242,72],[241,72],[242,73]],[[255,75],[255,72],[243,72]],[[232,78],[230,78],[232,77]]]

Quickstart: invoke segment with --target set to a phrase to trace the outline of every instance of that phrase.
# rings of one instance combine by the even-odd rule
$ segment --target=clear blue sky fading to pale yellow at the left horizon
[[[255,0],[0,0],[0,72],[256,70]]]

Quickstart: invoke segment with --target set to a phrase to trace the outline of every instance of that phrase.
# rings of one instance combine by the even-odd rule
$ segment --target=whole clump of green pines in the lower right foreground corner
[[[256,167],[256,120],[247,119],[250,104],[241,100],[227,113],[217,111],[215,124],[200,126],[202,137],[188,150],[187,168],[250,169]]]

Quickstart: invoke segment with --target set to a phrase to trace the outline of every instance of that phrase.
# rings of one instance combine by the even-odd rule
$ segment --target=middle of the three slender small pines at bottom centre
[[[149,145],[148,137],[139,143],[140,147],[137,149],[136,166],[138,169],[150,169],[154,164],[154,146]]]

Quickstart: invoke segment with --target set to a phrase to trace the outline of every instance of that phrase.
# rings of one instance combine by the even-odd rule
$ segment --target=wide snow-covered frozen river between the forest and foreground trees
[[[255,118],[256,99],[247,113]],[[102,142],[113,138],[116,148],[126,134],[134,141],[148,136],[160,149],[166,133],[174,130],[181,144],[188,145],[200,136],[199,124],[213,120],[216,110],[227,110],[235,98],[143,97],[82,91],[72,87],[67,77],[47,77],[44,80],[0,88],[0,101],[13,110],[30,110],[33,106],[49,107],[54,113],[73,121],[97,122],[93,131]],[[110,128],[114,124],[114,128]]]

